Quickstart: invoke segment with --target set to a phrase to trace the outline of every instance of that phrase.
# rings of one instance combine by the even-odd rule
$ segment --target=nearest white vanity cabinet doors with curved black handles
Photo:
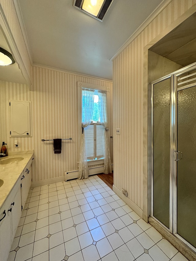
[[[8,258],[20,218],[21,188],[19,180],[0,209],[0,261]]]

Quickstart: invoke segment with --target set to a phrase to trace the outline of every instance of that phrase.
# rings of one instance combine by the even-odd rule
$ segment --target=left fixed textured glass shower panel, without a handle
[[[153,85],[153,216],[169,228],[170,78]]]

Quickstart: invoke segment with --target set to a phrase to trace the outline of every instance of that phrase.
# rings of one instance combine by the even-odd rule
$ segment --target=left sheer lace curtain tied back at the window
[[[82,137],[80,145],[79,172],[78,179],[89,177],[89,167],[86,156],[85,128],[92,120],[95,90],[82,88]]]

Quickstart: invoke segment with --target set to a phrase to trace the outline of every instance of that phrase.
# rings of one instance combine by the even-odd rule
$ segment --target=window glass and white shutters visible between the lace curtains
[[[84,109],[82,109],[83,113]],[[82,116],[84,119],[84,115]],[[104,157],[103,136],[104,128],[100,123],[99,115],[99,97],[97,90],[95,90],[92,120],[89,127],[85,129],[86,155],[88,160],[96,160]]]

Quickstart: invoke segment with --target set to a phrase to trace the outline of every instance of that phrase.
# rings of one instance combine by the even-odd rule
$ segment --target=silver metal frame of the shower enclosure
[[[178,116],[178,106],[177,106],[177,97],[178,97],[178,91],[190,88],[192,86],[196,86],[196,80],[195,83],[192,84],[192,86],[187,85],[183,86],[181,88],[178,88],[178,77],[184,73],[188,73],[189,71],[196,69],[196,63],[193,63],[191,65],[188,65],[182,69],[179,69],[167,76],[164,76],[162,78],[159,78],[152,83],[149,84],[149,117],[148,117],[148,177],[149,177],[149,216],[153,217],[156,222],[158,222],[164,229],[171,232],[175,237],[179,238],[183,243],[185,243],[189,248],[191,248],[194,252],[196,252],[196,248],[191,245],[187,240],[185,240],[183,237],[181,237],[177,233],[177,161],[175,157],[177,157],[177,116]],[[164,81],[166,79],[170,79],[170,181],[169,181],[169,228],[165,226],[163,223],[161,223],[156,217],[153,216],[153,86],[156,83],[159,83],[161,81]]]

